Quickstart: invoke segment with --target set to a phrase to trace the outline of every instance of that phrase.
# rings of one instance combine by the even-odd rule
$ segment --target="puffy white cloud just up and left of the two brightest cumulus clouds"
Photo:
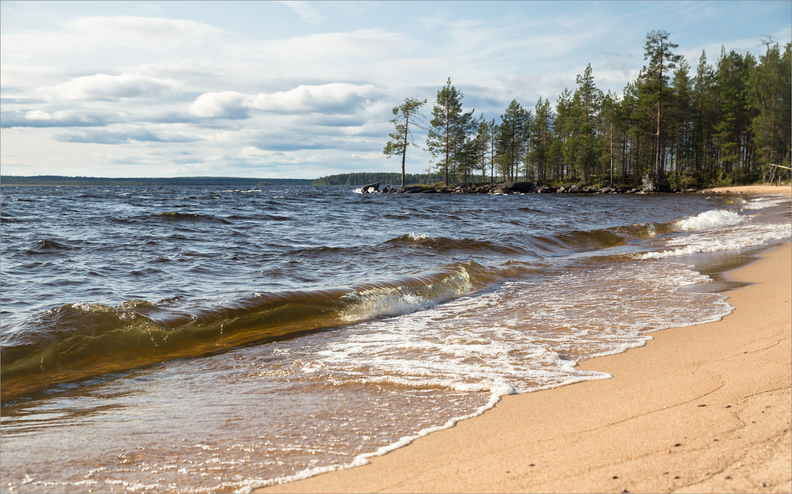
[[[48,101],[116,101],[122,98],[159,97],[179,93],[184,81],[143,74],[94,74],[39,89]]]

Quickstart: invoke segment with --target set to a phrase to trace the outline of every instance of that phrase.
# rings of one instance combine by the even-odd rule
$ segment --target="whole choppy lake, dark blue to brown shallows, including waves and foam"
[[[691,256],[790,237],[781,196],[0,199],[3,492],[247,492],[360,465],[718,320]]]

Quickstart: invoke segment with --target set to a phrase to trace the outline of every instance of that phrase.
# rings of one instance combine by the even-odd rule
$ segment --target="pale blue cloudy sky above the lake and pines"
[[[0,2],[0,173],[398,172],[391,108],[447,78],[466,111],[556,101],[590,63],[622,93],[646,34],[702,51],[792,40],[792,2]],[[429,116],[425,124],[431,120]],[[431,156],[418,131],[407,172]]]

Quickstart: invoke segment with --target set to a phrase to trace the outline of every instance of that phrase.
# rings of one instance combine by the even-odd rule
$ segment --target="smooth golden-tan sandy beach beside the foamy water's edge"
[[[722,321],[580,365],[611,379],[507,396],[366,466],[255,492],[790,492],[790,255],[732,272],[756,284],[726,292]]]

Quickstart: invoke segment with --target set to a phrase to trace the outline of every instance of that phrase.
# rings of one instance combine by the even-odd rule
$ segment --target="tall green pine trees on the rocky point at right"
[[[646,36],[645,66],[622,95],[596,87],[592,67],[551,105],[531,110],[516,100],[500,122],[463,112],[463,93],[437,93],[428,123],[427,171],[445,181],[543,180],[582,184],[649,184],[687,188],[773,180],[790,166],[790,44],[770,36],[762,54],[722,48],[714,64],[702,52],[691,67],[668,32]],[[758,43],[758,42],[757,42]],[[425,101],[393,108],[384,154],[409,161],[411,132]]]

